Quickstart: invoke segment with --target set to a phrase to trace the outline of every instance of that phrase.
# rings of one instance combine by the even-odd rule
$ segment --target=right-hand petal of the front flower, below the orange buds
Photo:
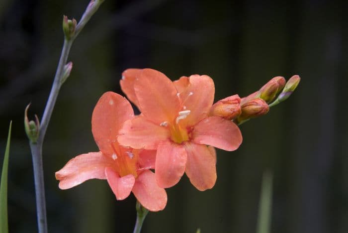
[[[193,141],[233,151],[242,143],[242,133],[238,126],[219,116],[203,119],[193,129]]]

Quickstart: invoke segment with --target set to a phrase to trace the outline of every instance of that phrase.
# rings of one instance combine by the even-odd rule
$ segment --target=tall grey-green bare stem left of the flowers
[[[45,186],[43,176],[43,165],[42,165],[42,145],[46,134],[48,123],[51,119],[53,108],[55,106],[59,90],[63,83],[64,69],[68,60],[70,48],[73,44],[74,39],[81,32],[83,27],[86,25],[90,17],[98,9],[99,5],[104,0],[91,0],[84,12],[79,24],[76,27],[75,35],[71,39],[65,38],[61,57],[59,59],[57,71],[54,77],[50,96],[47,100],[47,104],[44,110],[44,114],[41,119],[41,125],[39,128],[39,136],[37,142],[30,141],[30,150],[33,160],[34,170],[34,182],[35,182],[35,196],[36,196],[36,211],[37,211],[37,223],[39,233],[47,233],[47,217],[46,217],[46,200],[45,200]]]

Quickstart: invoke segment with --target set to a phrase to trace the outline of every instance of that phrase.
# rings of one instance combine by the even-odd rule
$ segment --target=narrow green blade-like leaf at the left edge
[[[12,121],[9,123],[7,144],[5,150],[5,156],[3,158],[1,183],[0,183],[0,232],[8,233],[8,221],[7,221],[7,170],[8,170],[8,155],[9,155],[9,142],[11,138],[11,126]]]

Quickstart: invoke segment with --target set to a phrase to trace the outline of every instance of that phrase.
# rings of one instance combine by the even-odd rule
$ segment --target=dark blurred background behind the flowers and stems
[[[0,1],[0,162],[12,123],[8,212],[12,233],[37,232],[33,171],[23,113],[42,116],[62,44],[62,16],[88,0]],[[218,150],[218,179],[200,192],[184,176],[143,233],[254,233],[261,177],[273,172],[273,233],[348,231],[348,2],[329,0],[105,0],[75,40],[43,147],[50,233],[132,232],[135,198],[116,201],[107,182],[59,190],[54,173],[97,151],[91,114],[106,91],[121,93],[127,68],[172,80],[206,74],[215,100],[247,96],[274,76],[302,77],[266,116],[241,125],[234,152]]]

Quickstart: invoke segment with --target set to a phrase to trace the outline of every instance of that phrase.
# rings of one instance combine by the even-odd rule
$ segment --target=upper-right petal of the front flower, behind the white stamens
[[[206,75],[191,75],[189,82],[186,90],[180,94],[183,110],[190,111],[182,123],[194,125],[208,115],[214,102],[215,87],[213,80]]]

